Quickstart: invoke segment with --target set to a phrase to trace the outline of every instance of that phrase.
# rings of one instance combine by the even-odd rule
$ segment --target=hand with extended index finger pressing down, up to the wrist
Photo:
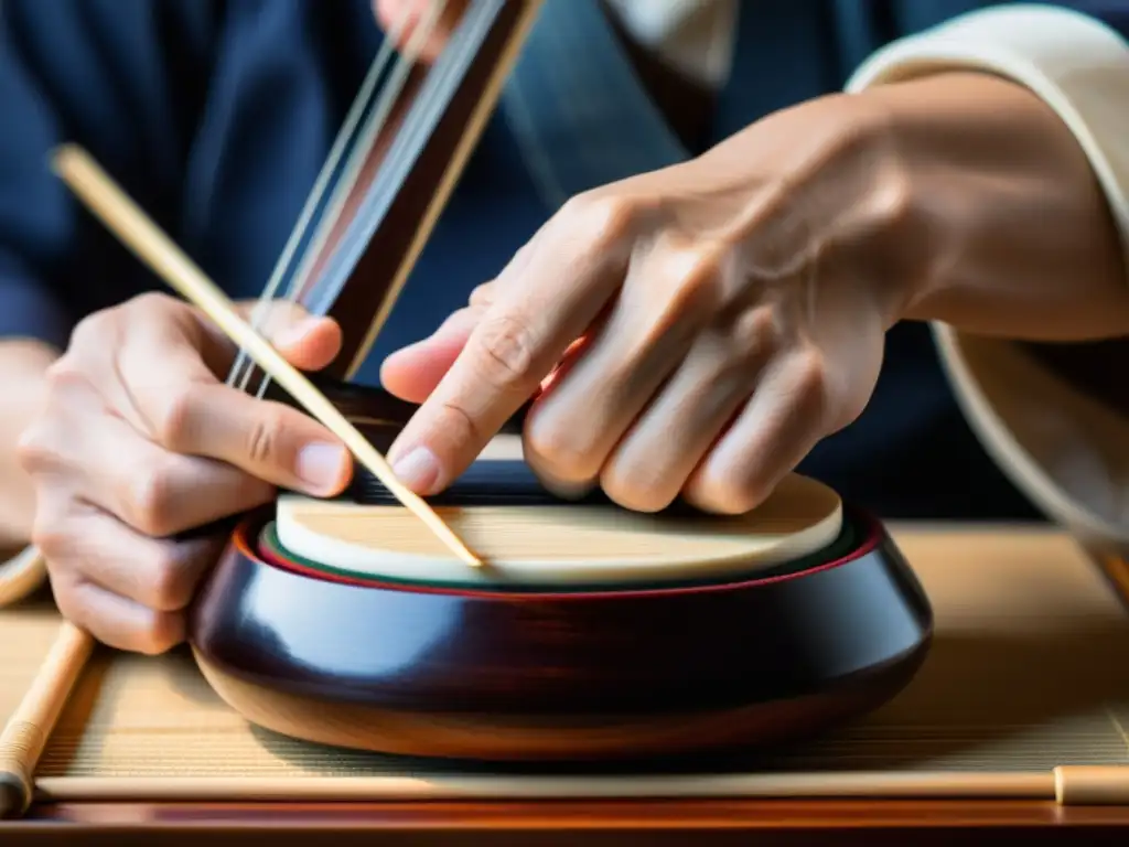
[[[865,408],[920,235],[885,114],[860,97],[577,197],[385,361],[385,386],[422,403],[390,459],[440,490],[541,388],[524,446],[549,487],[746,512]]]

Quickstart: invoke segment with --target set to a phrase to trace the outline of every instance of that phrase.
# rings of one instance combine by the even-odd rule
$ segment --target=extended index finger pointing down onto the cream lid
[[[390,451],[419,495],[456,479],[539,388],[623,281],[625,255],[575,232],[545,234],[501,286]]]

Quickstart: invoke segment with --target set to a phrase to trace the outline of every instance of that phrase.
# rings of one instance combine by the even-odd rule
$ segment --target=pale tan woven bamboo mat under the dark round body
[[[1129,614],[1097,568],[1048,531],[895,531],[934,602],[937,635],[917,680],[817,743],[714,772],[1045,772],[1129,765]],[[0,611],[0,719],[54,635],[51,610]],[[96,658],[38,776],[443,775],[434,763],[306,744],[248,726],[191,658]]]

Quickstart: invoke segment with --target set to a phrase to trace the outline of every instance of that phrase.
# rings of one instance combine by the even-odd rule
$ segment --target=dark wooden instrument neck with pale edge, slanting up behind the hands
[[[540,0],[475,0],[443,55],[415,66],[299,302],[341,325],[343,344],[325,370],[349,379],[364,363],[429,237],[487,117]]]

